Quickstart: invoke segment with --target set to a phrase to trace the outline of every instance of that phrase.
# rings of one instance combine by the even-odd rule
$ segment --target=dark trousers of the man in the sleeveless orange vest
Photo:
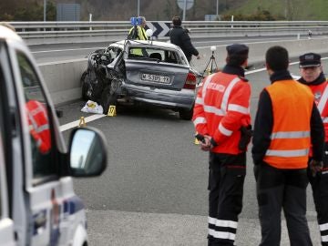
[[[312,246],[306,220],[306,169],[275,169],[265,163],[254,167],[261,246],[279,246],[283,209],[291,246]]]

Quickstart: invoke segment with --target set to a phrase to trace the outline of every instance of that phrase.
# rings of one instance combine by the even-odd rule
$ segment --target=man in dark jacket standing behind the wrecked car
[[[181,26],[180,17],[174,16],[172,18],[172,24],[173,28],[169,31],[170,42],[182,49],[189,62],[191,61],[192,55],[197,56],[197,58],[200,59],[198,50],[191,44],[188,31]]]

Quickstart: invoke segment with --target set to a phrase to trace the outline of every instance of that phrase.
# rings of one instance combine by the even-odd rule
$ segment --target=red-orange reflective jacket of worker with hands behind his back
[[[215,153],[239,154],[241,126],[251,124],[251,86],[242,77],[216,73],[206,77],[198,91],[192,121],[201,135],[210,135]]]

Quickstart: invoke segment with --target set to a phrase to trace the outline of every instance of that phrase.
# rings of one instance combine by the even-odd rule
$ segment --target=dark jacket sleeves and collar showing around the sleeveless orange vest
[[[270,77],[272,83],[279,80],[292,79],[288,71],[279,71]],[[257,117],[254,123],[254,135],[252,138],[253,147],[251,149],[254,164],[260,164],[271,144],[271,134],[273,128],[272,99],[267,90],[263,89],[260,95]],[[262,122],[262,120],[264,120]],[[313,159],[323,159],[323,121],[318,108],[313,102],[311,117],[311,139],[313,144]]]

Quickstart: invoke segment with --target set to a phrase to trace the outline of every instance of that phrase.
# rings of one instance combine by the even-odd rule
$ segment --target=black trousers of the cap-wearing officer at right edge
[[[323,171],[313,177],[311,170],[308,169],[308,178],[313,190],[322,245],[328,246],[328,143],[325,143],[323,157]]]

